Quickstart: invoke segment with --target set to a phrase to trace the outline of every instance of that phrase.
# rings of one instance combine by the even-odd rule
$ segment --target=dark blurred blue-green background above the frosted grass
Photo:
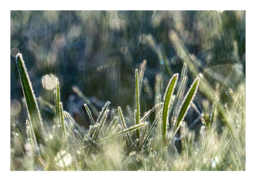
[[[27,119],[17,53],[23,54],[36,97],[54,104],[47,87],[54,75],[63,108],[85,127],[84,101],[72,87],[98,111],[109,100],[111,109],[126,112],[134,104],[135,69],[146,60],[141,113],[151,109],[159,76],[162,99],[170,77],[182,71],[184,52],[175,50],[171,30],[206,77],[208,70],[231,77],[234,68],[245,76],[245,11],[11,11],[12,116]],[[194,79],[188,74],[186,90]]]

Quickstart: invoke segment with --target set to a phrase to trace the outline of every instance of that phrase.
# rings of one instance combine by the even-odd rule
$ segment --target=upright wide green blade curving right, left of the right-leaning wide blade
[[[169,116],[169,108],[171,104],[171,99],[173,96],[174,88],[176,86],[177,80],[178,80],[179,74],[176,73],[170,79],[169,84],[166,88],[164,98],[163,98],[163,119],[162,119],[162,136],[163,136],[163,141],[166,141],[166,134],[167,134],[167,121],[168,121],[168,116]]]

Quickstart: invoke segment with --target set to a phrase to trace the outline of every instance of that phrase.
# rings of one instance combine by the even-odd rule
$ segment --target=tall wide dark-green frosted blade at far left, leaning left
[[[32,124],[32,130],[34,132],[36,143],[44,143],[42,139],[42,134],[44,133],[44,128],[42,126],[42,121],[37,106],[37,101],[34,95],[32,84],[29,79],[29,75],[23,60],[22,54],[16,55],[16,64],[18,67],[20,81],[22,82],[23,94],[26,101],[28,116]]]

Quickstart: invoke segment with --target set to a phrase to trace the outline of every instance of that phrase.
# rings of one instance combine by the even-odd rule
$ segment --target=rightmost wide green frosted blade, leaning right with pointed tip
[[[174,131],[177,130],[177,128],[179,127],[180,125],[180,122],[184,119],[186,113],[187,113],[187,110],[190,108],[190,105],[191,105],[191,102],[193,101],[196,93],[197,93],[197,89],[198,89],[198,85],[199,85],[199,82],[200,82],[200,78],[199,76],[195,79],[194,83],[191,85],[190,89],[188,90],[186,96],[184,97],[184,100],[181,104],[181,107],[178,111],[178,118],[176,120],[176,124],[175,124],[175,127],[174,127]]]

